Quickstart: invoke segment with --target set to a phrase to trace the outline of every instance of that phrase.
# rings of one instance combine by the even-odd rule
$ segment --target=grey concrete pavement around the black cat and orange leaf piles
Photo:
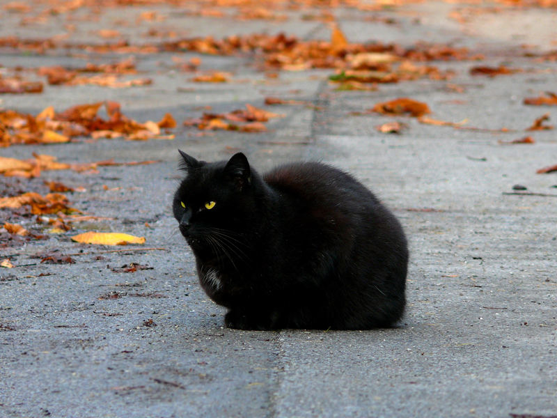
[[[47,171],[32,180],[2,178],[24,189],[41,190],[42,180],[84,186],[86,192],[69,195],[73,206],[115,219],[0,249],[0,258],[10,256],[17,266],[0,270],[0,417],[557,416],[557,177],[535,173],[557,164],[556,131],[524,132],[544,113],[554,123],[557,107],[522,104],[526,97],[557,90],[557,68],[555,61],[525,57],[520,47],[527,42],[537,45],[528,49],[535,52],[555,49],[556,13],[503,8],[496,15],[471,15],[464,24],[448,18],[462,7],[423,3],[368,13],[333,10],[353,42],[450,42],[485,55],[477,62],[428,63],[455,70],[448,82],[419,79],[379,84],[377,91],[336,91],[327,82],[332,70],[280,72],[269,82],[250,56],[203,55],[203,69],[233,72],[235,81],[197,84],[169,66],[175,53],[161,52],[135,56],[141,77],[153,79],[151,86],[47,86],[40,95],[2,95],[3,107],[33,114],[49,105],[62,110],[117,100],[138,121],[157,121],[169,111],[179,127],[172,141],[107,139],[0,150],[17,158],[46,153],[62,162],[162,160],[102,167],[97,175]],[[118,27],[141,43],[147,26],[118,26],[118,20],[134,22],[148,10],[167,16],[159,26],[188,36],[284,30],[328,40],[330,33],[327,24],[302,20],[303,10],[285,12],[286,22],[240,22],[149,6],[102,10],[99,22],[84,23],[72,39],[100,42],[91,31]],[[0,36],[54,36],[64,16],[42,26],[19,26],[14,14],[4,11]],[[120,58],[3,49],[0,63],[75,68]],[[501,63],[524,72],[469,75],[473,65]],[[285,117],[269,121],[269,132],[261,134],[199,136],[180,126],[200,116],[203,106],[215,113],[245,103],[264,107],[267,96],[314,106],[265,107]],[[396,120],[408,130],[382,134],[375,126],[393,118],[351,114],[398,97],[426,102],[435,119],[466,118],[469,127],[513,131],[460,130],[401,117]],[[535,144],[499,144],[526,134]],[[198,286],[194,259],[171,214],[180,178],[177,148],[204,160],[241,149],[261,170],[290,160],[322,160],[354,173],[393,208],[409,237],[409,308],[400,327],[224,329],[224,311]],[[533,194],[508,194],[516,184]],[[69,236],[81,229],[145,236],[146,247],[158,249],[106,252],[112,248],[71,242]],[[41,264],[32,258],[54,249],[74,254],[77,263]],[[130,263],[152,270],[113,271]]]

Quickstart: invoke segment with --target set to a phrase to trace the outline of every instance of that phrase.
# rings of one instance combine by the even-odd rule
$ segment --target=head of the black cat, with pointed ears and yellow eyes
[[[228,161],[205,162],[179,151],[187,173],[173,201],[180,232],[194,251],[210,251],[219,240],[238,240],[258,217],[257,173],[246,156],[237,153]]]

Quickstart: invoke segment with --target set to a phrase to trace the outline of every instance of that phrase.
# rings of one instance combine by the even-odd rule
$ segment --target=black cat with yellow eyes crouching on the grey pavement
[[[187,176],[174,216],[201,286],[242,330],[388,327],[405,309],[408,249],[397,219],[343,171],[318,162],[260,176],[245,155]]]

